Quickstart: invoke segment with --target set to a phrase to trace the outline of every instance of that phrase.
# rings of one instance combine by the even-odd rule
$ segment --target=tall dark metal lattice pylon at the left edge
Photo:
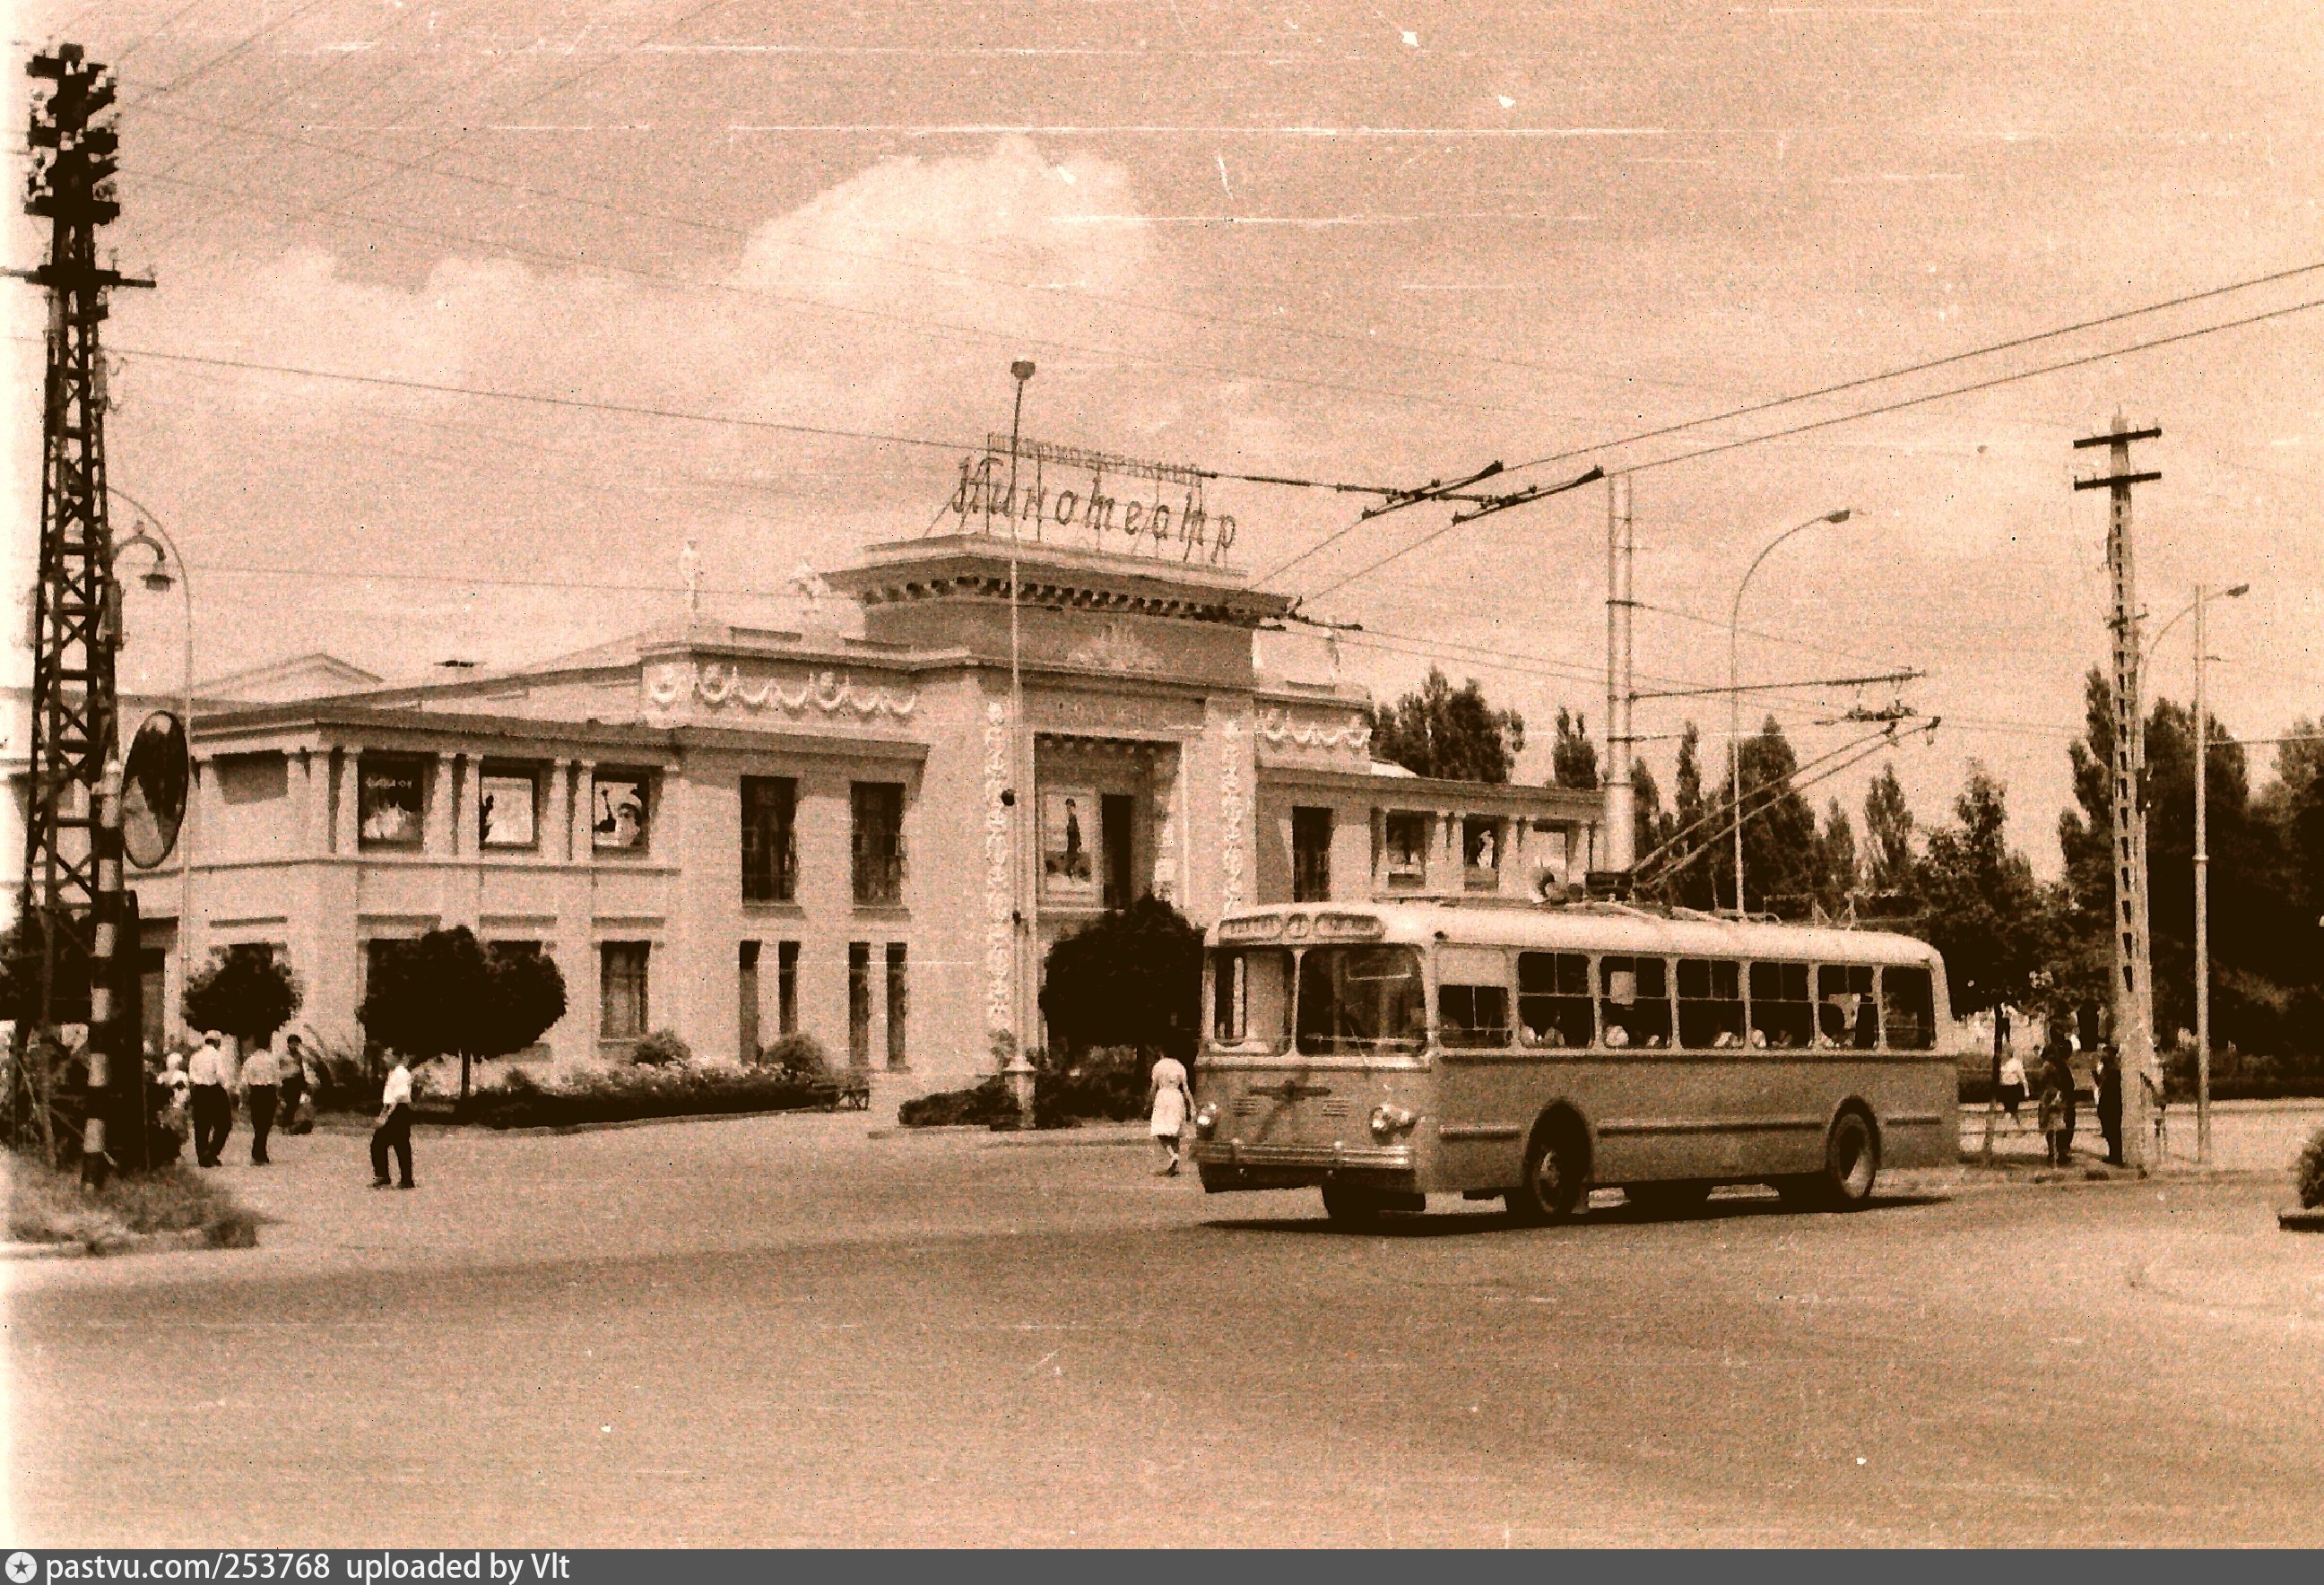
[[[49,221],[49,260],[23,279],[49,293],[49,372],[42,400],[40,583],[33,593],[33,797],[26,820],[23,923],[37,981],[19,1018],[9,1113],[46,1143],[44,1046],[65,1023],[88,1025],[84,1174],[102,1181],[123,1155],[142,1153],[137,1030],[123,1027],[121,732],[114,655],[121,595],[105,518],[105,295],[130,281],[98,265],[98,228],[121,214],[112,177],[119,135],[105,121],[114,81],[79,44],[33,56],[26,72],[49,84],[33,105],[33,174],[26,211]],[[30,992],[33,985],[26,985]],[[107,1125],[135,1129],[107,1139]]]

